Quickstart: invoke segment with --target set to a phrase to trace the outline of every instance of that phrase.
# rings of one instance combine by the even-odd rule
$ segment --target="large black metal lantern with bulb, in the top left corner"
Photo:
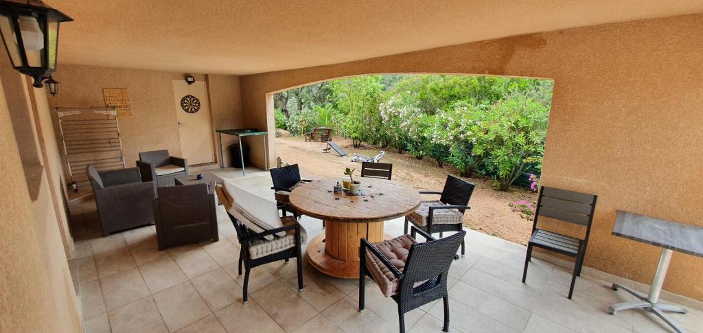
[[[58,25],[73,19],[38,0],[0,0],[0,34],[15,70],[34,86],[56,70]]]

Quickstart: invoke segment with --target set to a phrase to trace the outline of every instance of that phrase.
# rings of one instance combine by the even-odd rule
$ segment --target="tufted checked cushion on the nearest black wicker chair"
[[[373,246],[402,272],[413,244],[415,244],[413,237],[400,235],[392,240],[373,243]],[[366,251],[366,268],[384,296],[389,297],[396,294],[398,279],[378,257],[368,250]]]

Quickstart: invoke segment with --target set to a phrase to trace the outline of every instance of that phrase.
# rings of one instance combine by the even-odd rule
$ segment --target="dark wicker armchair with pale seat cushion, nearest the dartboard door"
[[[168,150],[140,152],[136,166],[143,181],[153,181],[159,187],[176,185],[176,177],[188,174],[188,160],[171,156]]]

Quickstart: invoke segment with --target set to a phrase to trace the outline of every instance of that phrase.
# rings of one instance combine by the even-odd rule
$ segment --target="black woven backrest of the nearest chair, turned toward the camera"
[[[437,283],[444,283],[446,287],[449,267],[465,235],[466,231],[461,230],[439,240],[413,244],[403,270],[403,280],[399,286],[401,296],[411,296],[415,282],[438,279]],[[410,295],[406,295],[408,292]]]

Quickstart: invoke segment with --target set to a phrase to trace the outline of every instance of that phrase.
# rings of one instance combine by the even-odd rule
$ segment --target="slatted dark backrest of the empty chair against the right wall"
[[[532,230],[536,228],[539,216],[546,216],[586,226],[590,231],[597,199],[598,195],[542,186],[539,190]]]

